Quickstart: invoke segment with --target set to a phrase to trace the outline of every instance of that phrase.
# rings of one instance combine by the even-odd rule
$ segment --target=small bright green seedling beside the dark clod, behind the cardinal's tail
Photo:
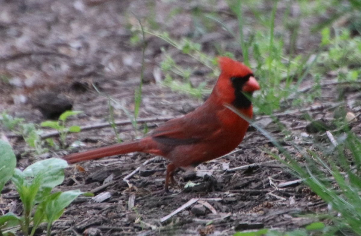
[[[69,132],[71,133],[78,133],[80,132],[80,127],[78,125],[72,125],[69,127],[65,126],[66,119],[69,116],[75,116],[82,113],[82,111],[65,111],[59,116],[58,121],[44,121],[40,124],[42,127],[49,127],[56,129],[59,132],[60,137],[60,143],[62,148],[65,148],[65,139],[66,135],[68,135]]]

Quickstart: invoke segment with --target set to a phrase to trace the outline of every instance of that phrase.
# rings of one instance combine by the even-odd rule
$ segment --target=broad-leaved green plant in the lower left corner
[[[0,235],[15,235],[20,228],[23,235],[32,236],[40,223],[47,222],[49,236],[52,223],[82,194],[79,190],[51,193],[64,181],[63,170],[68,164],[62,159],[51,158],[35,162],[21,171],[15,168],[16,157],[11,146],[0,140],[0,150],[0,191],[11,178],[23,204],[21,217],[11,212],[0,216]]]

